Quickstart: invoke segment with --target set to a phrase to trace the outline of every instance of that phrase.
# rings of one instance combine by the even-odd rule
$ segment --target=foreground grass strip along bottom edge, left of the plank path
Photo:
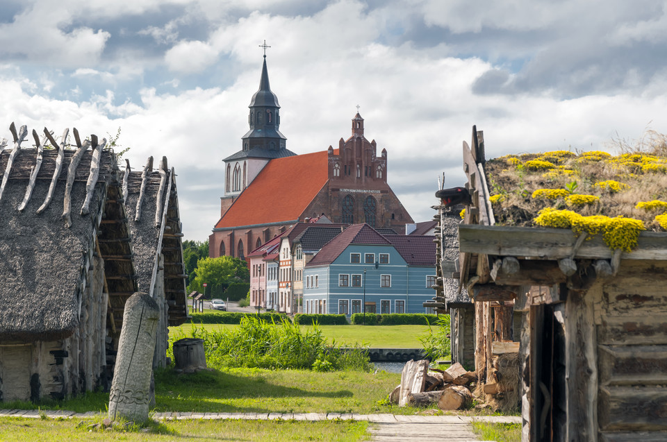
[[[265,420],[179,420],[149,432],[89,430],[96,420],[0,418],[0,440],[24,441],[366,441],[368,423]]]

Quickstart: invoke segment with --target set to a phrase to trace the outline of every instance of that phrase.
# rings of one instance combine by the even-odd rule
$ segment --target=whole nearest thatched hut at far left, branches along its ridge
[[[115,155],[76,129],[73,149],[69,130],[58,143],[46,129],[10,129],[0,152],[0,400],[106,386],[125,300],[139,289]]]

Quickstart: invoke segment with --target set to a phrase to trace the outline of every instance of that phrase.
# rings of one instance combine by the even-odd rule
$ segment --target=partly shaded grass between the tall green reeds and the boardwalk
[[[386,403],[388,393],[400,384],[400,377],[400,373],[385,371],[317,373],[229,368],[179,375],[164,370],[155,377],[155,411],[412,414],[417,409]],[[11,402],[3,407],[105,412],[108,400],[108,393],[97,392],[61,402]]]

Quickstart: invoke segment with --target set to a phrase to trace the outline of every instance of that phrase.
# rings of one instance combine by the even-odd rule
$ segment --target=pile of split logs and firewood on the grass
[[[400,407],[432,407],[441,410],[458,410],[472,404],[471,389],[475,388],[477,375],[466,371],[458,362],[447,370],[429,370],[429,362],[410,361],[401,373],[401,384],[389,395],[390,402]]]

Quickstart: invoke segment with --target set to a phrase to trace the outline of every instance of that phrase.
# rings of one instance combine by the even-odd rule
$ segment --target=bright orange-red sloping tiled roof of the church
[[[334,151],[338,154],[338,149]],[[329,179],[327,151],[271,160],[215,228],[293,221]]]

